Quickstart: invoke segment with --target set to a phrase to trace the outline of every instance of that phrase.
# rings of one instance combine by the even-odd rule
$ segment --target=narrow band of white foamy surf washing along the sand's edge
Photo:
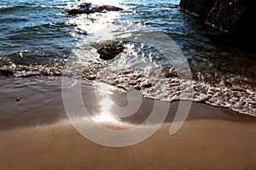
[[[95,68],[98,68],[97,72]],[[128,93],[132,90],[139,90],[144,97],[162,101],[189,100],[206,103],[208,105],[224,107],[241,114],[256,116],[256,90],[254,88],[225,87],[223,84],[209,84],[206,82],[192,81],[178,77],[156,77],[148,76],[152,68],[137,70],[108,71],[99,64],[88,65],[83,69],[78,66],[71,71],[65,72],[67,65],[12,65],[0,67],[0,77],[73,77],[75,79],[86,79],[96,82],[105,82],[120,91]],[[79,70],[80,75],[73,74]],[[64,72],[63,72],[64,71]],[[163,76],[163,74],[161,75]],[[186,94],[184,87],[192,84],[192,93]]]

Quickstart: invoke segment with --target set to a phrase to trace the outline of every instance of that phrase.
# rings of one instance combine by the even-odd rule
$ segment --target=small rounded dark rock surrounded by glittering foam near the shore
[[[104,59],[104,60],[113,59],[118,54],[121,54],[125,49],[125,47],[121,42],[102,42],[102,43],[104,43],[103,47],[97,50],[97,53],[100,54],[100,59]]]

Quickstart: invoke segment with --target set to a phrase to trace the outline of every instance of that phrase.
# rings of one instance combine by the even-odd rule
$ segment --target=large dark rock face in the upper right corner
[[[255,4],[251,0],[181,0],[179,5],[183,12],[199,16],[220,31],[254,42]]]

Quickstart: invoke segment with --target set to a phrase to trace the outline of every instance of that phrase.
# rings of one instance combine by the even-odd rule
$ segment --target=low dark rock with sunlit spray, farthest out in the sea
[[[108,11],[121,11],[123,8],[111,6],[111,5],[96,5],[92,3],[81,3],[79,8],[73,8],[69,10],[68,14],[93,14],[104,13]]]

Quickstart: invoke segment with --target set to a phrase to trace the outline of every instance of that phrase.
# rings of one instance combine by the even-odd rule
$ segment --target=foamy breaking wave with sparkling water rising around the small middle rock
[[[142,45],[142,44],[141,44]],[[163,101],[192,100],[221,106],[242,114],[256,116],[256,89],[248,84],[236,84],[227,77],[210,83],[177,77],[175,68],[162,66],[157,59],[149,59],[150,51],[138,49],[138,44],[125,42],[125,51],[118,57],[104,61],[99,58],[93,44],[79,48],[79,58],[47,65],[12,65],[2,59],[2,77],[66,76],[106,82],[121,91],[140,90],[144,97]],[[74,52],[73,52],[74,53]],[[66,59],[67,61],[67,59]],[[6,66],[9,65],[9,66]],[[183,86],[193,84],[192,97],[183,95]]]

